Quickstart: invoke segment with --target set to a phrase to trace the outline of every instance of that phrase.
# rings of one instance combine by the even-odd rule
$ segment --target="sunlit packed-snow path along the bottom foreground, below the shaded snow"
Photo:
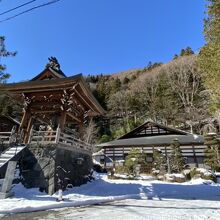
[[[65,208],[8,216],[2,220],[217,220],[219,204],[201,200],[123,200],[104,205]]]

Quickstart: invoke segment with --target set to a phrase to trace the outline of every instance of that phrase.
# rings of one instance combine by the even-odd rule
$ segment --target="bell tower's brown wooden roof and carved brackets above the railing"
[[[64,131],[71,125],[80,136],[86,119],[104,113],[81,74],[66,77],[56,58],[49,61],[32,80],[0,86],[23,104],[20,131],[24,143],[29,140],[31,128],[39,124],[50,126],[51,131],[57,127]]]

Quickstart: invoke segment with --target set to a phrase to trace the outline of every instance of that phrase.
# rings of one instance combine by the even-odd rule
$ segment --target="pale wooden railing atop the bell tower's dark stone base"
[[[92,151],[92,146],[80,139],[74,137],[74,135],[61,132],[58,128],[56,131],[35,131],[31,129],[29,135],[29,144],[63,144],[73,148]]]

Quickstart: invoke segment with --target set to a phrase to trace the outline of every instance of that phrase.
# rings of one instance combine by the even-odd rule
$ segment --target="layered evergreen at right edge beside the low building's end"
[[[214,171],[220,171],[220,140],[216,134],[208,134],[205,136],[205,164]]]

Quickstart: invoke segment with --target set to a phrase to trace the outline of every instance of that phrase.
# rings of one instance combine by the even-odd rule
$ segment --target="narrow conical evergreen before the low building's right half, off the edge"
[[[184,168],[185,160],[182,156],[178,139],[174,139],[170,147],[172,149],[169,161],[171,172],[181,172]]]

